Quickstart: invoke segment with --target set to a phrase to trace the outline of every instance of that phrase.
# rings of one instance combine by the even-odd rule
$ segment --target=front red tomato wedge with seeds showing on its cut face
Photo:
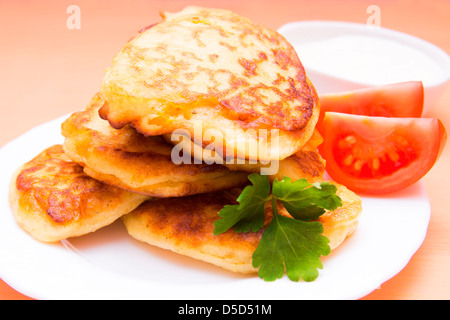
[[[441,154],[440,120],[326,112],[319,152],[332,179],[357,193],[386,194],[420,180]]]

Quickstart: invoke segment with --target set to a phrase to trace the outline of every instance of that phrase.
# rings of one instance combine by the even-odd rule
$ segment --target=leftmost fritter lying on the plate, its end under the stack
[[[92,179],[55,145],[17,170],[9,199],[25,231],[55,242],[109,225],[149,197]]]

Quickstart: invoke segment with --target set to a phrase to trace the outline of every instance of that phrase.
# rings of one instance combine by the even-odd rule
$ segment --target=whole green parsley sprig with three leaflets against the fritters
[[[322,235],[322,223],[316,221],[326,210],[342,206],[336,186],[328,182],[310,184],[306,179],[292,182],[288,177],[275,179],[249,175],[252,185],[244,188],[236,205],[226,205],[214,223],[218,235],[234,228],[236,232],[257,232],[264,227],[266,204],[272,205],[272,220],[264,230],[253,253],[253,267],[265,281],[274,281],[284,271],[292,281],[313,281],[322,269],[321,256],[330,253],[329,240]],[[278,201],[291,217],[278,212]]]

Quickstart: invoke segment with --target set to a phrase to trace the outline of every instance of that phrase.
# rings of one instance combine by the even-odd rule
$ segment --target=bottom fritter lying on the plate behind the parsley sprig
[[[337,185],[342,207],[325,213],[320,221],[330,248],[338,247],[358,224],[361,199],[344,186]],[[239,193],[238,193],[239,194]],[[236,233],[233,229],[214,235],[217,213],[227,204],[235,204],[236,194],[230,191],[194,195],[176,199],[155,199],[143,203],[122,217],[128,233],[135,239],[176,253],[206,261],[227,270],[253,273],[252,254],[259,244],[263,229]],[[280,214],[288,216],[284,207]],[[271,219],[266,210],[265,226]]]

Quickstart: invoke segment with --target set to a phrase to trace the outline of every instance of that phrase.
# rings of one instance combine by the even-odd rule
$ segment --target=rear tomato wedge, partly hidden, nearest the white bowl
[[[320,95],[321,117],[327,111],[379,117],[420,118],[424,90],[421,81],[408,81],[341,93]]]

